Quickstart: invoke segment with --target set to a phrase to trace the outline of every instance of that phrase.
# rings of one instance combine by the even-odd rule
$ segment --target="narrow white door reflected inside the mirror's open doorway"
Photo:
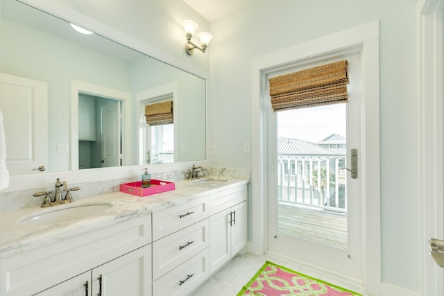
[[[101,107],[102,166],[120,166],[121,159],[120,102]]]

